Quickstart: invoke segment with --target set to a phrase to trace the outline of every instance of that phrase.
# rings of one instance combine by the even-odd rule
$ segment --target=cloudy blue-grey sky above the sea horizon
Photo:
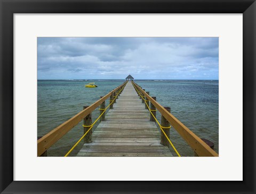
[[[37,38],[38,79],[219,79],[219,38]]]

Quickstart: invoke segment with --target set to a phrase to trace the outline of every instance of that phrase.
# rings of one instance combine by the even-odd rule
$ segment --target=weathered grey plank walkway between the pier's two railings
[[[77,156],[172,156],[131,82],[118,98]]]

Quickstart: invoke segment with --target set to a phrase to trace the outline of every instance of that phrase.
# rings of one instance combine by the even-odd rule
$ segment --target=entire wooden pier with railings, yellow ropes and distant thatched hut
[[[106,107],[107,99],[109,105]],[[92,112],[98,107],[100,115],[92,122]],[[156,111],[161,114],[161,123],[156,119]],[[105,96],[100,96],[98,101],[84,107],[84,110],[39,138],[37,156],[47,156],[47,150],[82,120],[84,135],[65,157],[82,141],[84,145],[77,156],[170,157],[170,149],[174,150],[175,156],[180,156],[170,140],[171,127],[171,130],[176,130],[194,150],[195,156],[219,156],[209,144],[206,144],[207,141],[205,143],[174,117],[170,107],[161,106],[156,97],[150,96],[149,92],[133,82],[130,75],[123,84]],[[100,124],[93,131],[92,128],[98,120]]]

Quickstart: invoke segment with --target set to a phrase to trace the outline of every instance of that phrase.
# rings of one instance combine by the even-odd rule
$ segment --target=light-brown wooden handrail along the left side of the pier
[[[102,102],[105,102],[109,97],[113,98],[113,94],[115,95],[115,93],[119,91],[126,83],[127,81],[121,84],[120,86],[116,87],[113,91],[109,92],[107,95],[100,98],[100,100],[94,102],[91,106],[87,107],[86,109],[76,114],[74,117],[67,120],[65,123],[54,128],[54,130],[47,133],[42,138],[38,139],[37,140],[37,156],[44,155],[45,151],[47,151],[54,143],[56,143],[59,139],[61,139],[63,135],[65,135],[72,128],[74,128],[87,115],[91,114],[91,112],[97,107],[99,107],[102,104]]]

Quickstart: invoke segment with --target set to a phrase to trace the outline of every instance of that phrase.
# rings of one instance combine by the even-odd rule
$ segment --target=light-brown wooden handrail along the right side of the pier
[[[145,92],[138,84],[133,82],[135,87],[154,107],[162,114],[162,116],[173,126],[180,136],[189,144],[198,156],[219,156],[217,152],[211,149],[203,140],[191,132],[188,127],[183,125],[176,117],[174,117],[161,104],[155,101],[147,92]]]

